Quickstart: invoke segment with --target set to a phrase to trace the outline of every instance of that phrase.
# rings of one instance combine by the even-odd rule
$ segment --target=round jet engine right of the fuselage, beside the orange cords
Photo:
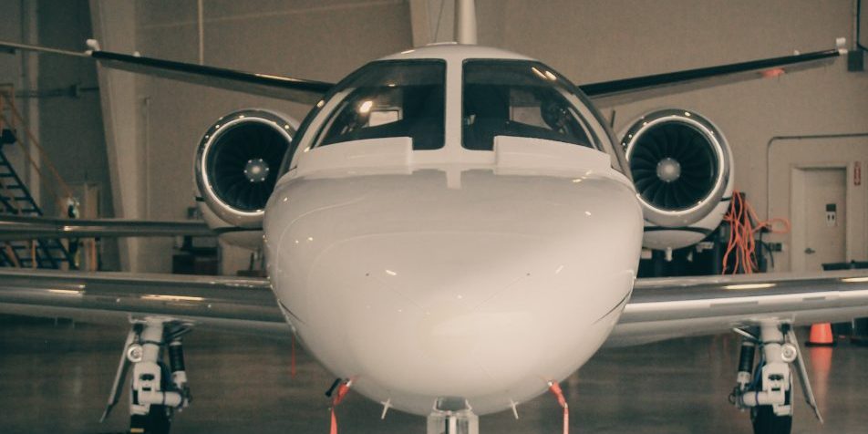
[[[689,110],[656,110],[637,119],[621,143],[646,220],[645,247],[687,247],[718,227],[732,197],[732,156],[711,121]]]

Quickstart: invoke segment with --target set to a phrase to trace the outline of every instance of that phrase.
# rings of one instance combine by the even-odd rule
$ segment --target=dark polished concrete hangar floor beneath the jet
[[[126,395],[98,423],[126,336],[123,325],[71,324],[0,316],[0,432],[122,432]],[[194,396],[174,432],[328,432],[332,380],[304,352],[289,376],[288,339],[203,330],[186,339]],[[746,414],[730,407],[738,353],[735,336],[677,339],[604,349],[563,384],[573,433],[749,433]],[[515,343],[522,351],[522,343]],[[842,342],[807,350],[826,424],[800,399],[795,433],[861,433],[868,427],[868,348]],[[349,395],[338,408],[340,432],[424,433],[424,418]],[[480,418],[483,434],[560,432],[551,396]]]

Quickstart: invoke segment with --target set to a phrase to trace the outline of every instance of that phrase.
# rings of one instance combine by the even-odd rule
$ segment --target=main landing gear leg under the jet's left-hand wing
[[[132,321],[132,327],[120,356],[118,373],[109,394],[109,403],[100,422],[118,403],[124,380],[132,366],[129,391],[129,432],[168,433],[175,410],[186,408],[191,401],[184,367],[181,336],[190,325],[169,318],[148,317]],[[163,350],[169,355],[168,365]]]

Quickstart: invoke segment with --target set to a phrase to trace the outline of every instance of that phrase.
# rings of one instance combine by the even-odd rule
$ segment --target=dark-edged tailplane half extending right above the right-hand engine
[[[736,83],[755,78],[775,78],[784,73],[830,65],[835,57],[844,56],[839,47],[813,53],[774,57],[749,62],[700,67],[652,76],[622,78],[579,86],[599,107],[662,97],[698,88]]]

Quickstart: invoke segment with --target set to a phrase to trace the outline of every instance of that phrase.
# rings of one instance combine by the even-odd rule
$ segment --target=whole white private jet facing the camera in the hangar
[[[477,433],[478,415],[558,394],[604,344],[734,329],[733,402],[755,432],[789,433],[791,365],[816,409],[792,327],[868,314],[868,274],[637,280],[643,243],[680,246],[718,224],[731,157],[696,113],[657,112],[619,143],[594,103],[776,76],[842,50],[576,87],[474,45],[473,5],[458,9],[459,44],[384,57],[336,85],[0,44],[314,104],[300,125],[234,112],[198,150],[207,221],[264,242],[268,279],[5,270],[0,312],[129,320],[107,414],[132,367],[131,432],[168,431],[189,402],[181,336],[211,326],[291,329],[340,378],[336,402],[351,387],[427,416],[429,434]]]

